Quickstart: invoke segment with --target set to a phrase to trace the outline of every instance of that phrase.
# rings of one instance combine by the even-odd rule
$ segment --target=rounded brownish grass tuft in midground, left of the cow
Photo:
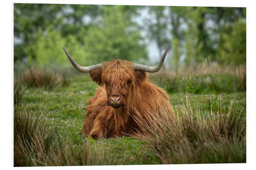
[[[28,87],[52,89],[58,84],[60,79],[60,76],[53,71],[32,67],[28,68],[23,75],[23,81]]]

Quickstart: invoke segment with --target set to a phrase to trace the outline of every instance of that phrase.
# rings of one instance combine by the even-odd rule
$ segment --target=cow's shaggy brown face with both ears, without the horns
[[[132,89],[145,79],[143,71],[134,71],[133,62],[124,60],[103,63],[103,69],[90,72],[91,78],[104,86],[108,96],[108,105],[119,108],[129,103]]]

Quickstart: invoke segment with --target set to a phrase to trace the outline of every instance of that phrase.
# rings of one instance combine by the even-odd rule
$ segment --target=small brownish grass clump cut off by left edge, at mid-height
[[[15,106],[20,104],[20,102],[22,101],[24,90],[22,89],[22,81],[16,78],[15,75],[13,83],[13,103]]]

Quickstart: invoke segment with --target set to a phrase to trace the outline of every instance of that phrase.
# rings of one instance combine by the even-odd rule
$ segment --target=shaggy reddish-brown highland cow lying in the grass
[[[73,66],[81,72],[90,72],[93,81],[99,85],[88,101],[83,135],[110,138],[133,134],[139,130],[133,117],[138,113],[142,117],[148,112],[161,114],[164,108],[169,114],[174,114],[166,92],[148,82],[146,75],[146,72],[157,72],[161,68],[168,47],[154,67],[125,60],[83,67],[63,48]]]

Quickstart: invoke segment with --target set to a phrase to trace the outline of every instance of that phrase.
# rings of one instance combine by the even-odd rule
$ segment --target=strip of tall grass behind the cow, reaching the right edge
[[[149,78],[170,93],[215,94],[246,91],[246,69],[244,66],[236,68],[222,68],[218,64],[207,66],[201,64],[197,67],[179,70],[179,72],[172,70],[158,72],[151,74]]]

